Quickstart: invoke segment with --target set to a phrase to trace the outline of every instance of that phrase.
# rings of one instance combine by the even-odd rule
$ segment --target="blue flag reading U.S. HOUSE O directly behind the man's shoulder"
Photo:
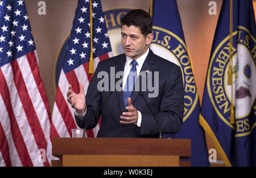
[[[209,166],[205,134],[199,124],[199,96],[185,45],[177,2],[154,1],[152,14],[154,39],[150,48],[158,56],[179,65],[184,82],[183,128],[177,134],[165,134],[164,138],[191,139],[191,158],[188,159],[191,166]]]

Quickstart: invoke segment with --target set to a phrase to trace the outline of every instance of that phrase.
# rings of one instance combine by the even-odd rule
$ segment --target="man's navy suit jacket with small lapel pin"
[[[122,91],[115,90],[110,95],[110,89],[113,90],[113,87],[110,88],[110,84],[108,91],[98,91],[97,84],[102,80],[101,78],[97,78],[98,73],[100,71],[108,73],[110,82],[110,67],[114,67],[115,73],[117,73],[118,71],[124,70],[125,62],[125,54],[120,54],[119,56],[98,63],[85,96],[86,115],[82,120],[75,116],[77,125],[79,125],[80,128],[84,128],[90,120],[86,129],[93,129],[101,116],[101,126],[97,137],[158,138],[158,125],[143,98],[138,95],[138,91],[133,91],[130,97],[133,106],[142,114],[141,127],[138,127],[136,124],[121,124],[119,122],[120,116],[122,112],[124,112]],[[150,50],[141,69],[141,71],[145,70],[152,71],[153,74],[154,71],[159,72],[158,96],[156,98],[148,98],[148,93],[150,93],[148,90],[143,91],[143,94],[156,119],[159,121],[162,133],[174,134],[179,132],[183,125],[184,113],[184,88],[180,67],[156,56]],[[152,79],[154,81],[154,77]],[[116,78],[115,82],[118,80],[120,79]],[[139,80],[137,79],[137,81]],[[154,84],[154,82],[152,83]],[[140,87],[140,89],[142,89],[142,87]],[[109,95],[110,98],[103,105],[100,112],[92,118]]]

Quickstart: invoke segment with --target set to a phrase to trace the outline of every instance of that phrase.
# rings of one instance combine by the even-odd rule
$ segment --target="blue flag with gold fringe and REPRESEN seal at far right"
[[[200,123],[226,166],[256,166],[255,37],[252,2],[224,1],[208,65]],[[228,76],[232,77],[230,83]],[[230,121],[232,108],[234,123]]]

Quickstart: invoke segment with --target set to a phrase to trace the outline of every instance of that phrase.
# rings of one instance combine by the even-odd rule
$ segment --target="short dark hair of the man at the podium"
[[[148,12],[142,9],[131,10],[125,16],[123,16],[121,19],[121,27],[123,25],[126,25],[127,27],[139,27],[144,37],[146,37],[149,33],[152,33],[152,18]]]

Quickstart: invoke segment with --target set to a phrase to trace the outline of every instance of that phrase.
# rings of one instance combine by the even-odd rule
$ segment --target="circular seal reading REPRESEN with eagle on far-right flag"
[[[217,115],[230,128],[235,136],[251,133],[255,127],[256,96],[256,46],[255,39],[242,26],[233,32],[233,58],[229,60],[229,36],[214,50],[207,75],[207,89]],[[232,65],[232,85],[228,84],[229,65]],[[235,109],[235,124],[230,124],[230,109]]]

